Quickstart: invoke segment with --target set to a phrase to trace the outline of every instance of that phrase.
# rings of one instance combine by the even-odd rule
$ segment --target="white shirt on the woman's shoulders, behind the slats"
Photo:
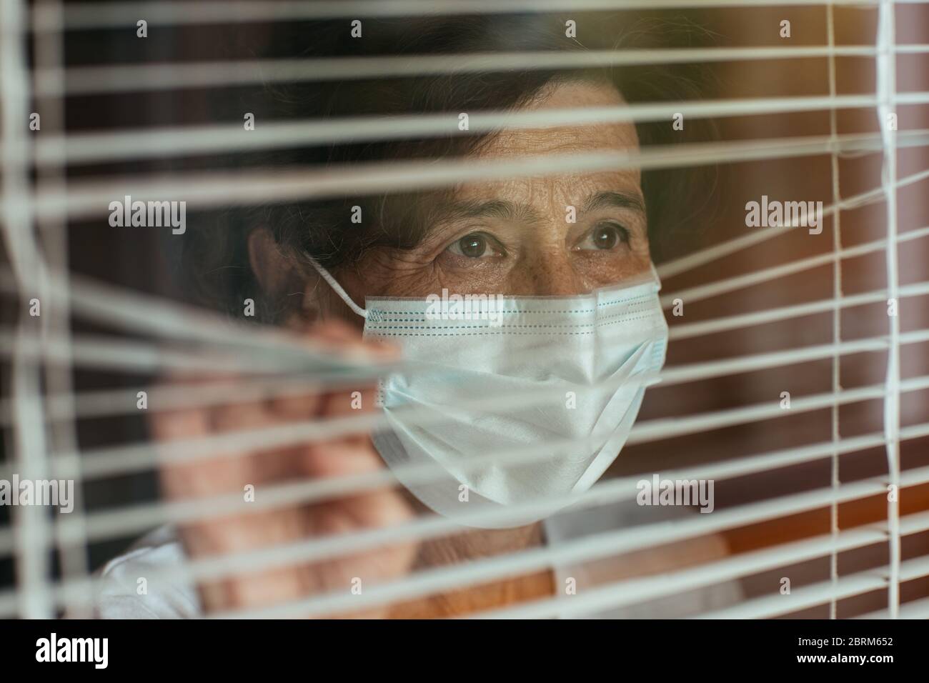
[[[641,507],[635,500],[627,500],[608,506],[562,511],[543,523],[546,543],[554,546],[589,534],[688,514],[689,510],[681,507]],[[668,554],[652,551],[648,557],[667,559]],[[143,536],[124,555],[111,559],[98,572],[102,581],[94,599],[95,615],[102,619],[188,619],[201,616],[196,587],[183,575],[187,559],[174,528],[161,527]],[[630,559],[635,561],[635,558]],[[180,575],[156,581],[159,572],[169,567],[180,568]],[[583,595],[587,588],[608,583],[616,569],[622,570],[622,558],[556,566],[556,595],[571,599],[566,590],[569,579],[573,579],[576,588],[574,595]],[[628,569],[625,567],[625,571],[620,573],[628,575]],[[152,579],[146,578],[145,595],[137,595],[140,577]],[[612,577],[613,580],[615,578]],[[732,605],[741,598],[739,583],[726,582],[584,616],[617,619],[687,617]]]

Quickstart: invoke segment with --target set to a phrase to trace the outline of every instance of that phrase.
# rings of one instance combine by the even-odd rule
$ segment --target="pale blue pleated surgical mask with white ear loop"
[[[372,440],[426,506],[468,526],[543,519],[616,459],[664,364],[654,268],[580,296],[368,297],[364,337],[402,349]]]

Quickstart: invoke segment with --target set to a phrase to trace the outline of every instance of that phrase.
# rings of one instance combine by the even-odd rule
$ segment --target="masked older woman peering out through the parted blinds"
[[[630,23],[619,44],[674,45],[681,24],[674,26]],[[350,38],[341,24],[297,27],[289,34],[313,46],[314,54],[330,56],[521,49],[580,54],[563,21],[551,29],[535,18],[366,22],[361,39]],[[610,36],[611,44],[618,35]],[[280,39],[271,44],[290,49]],[[657,68],[501,71],[313,83],[274,91],[268,102],[306,119],[442,112],[455,121],[461,113],[477,117],[489,110],[619,111],[635,99],[680,99],[690,83],[680,70]],[[455,125],[447,136],[349,140],[294,150],[289,158],[277,154],[274,163],[492,163],[622,154],[638,151],[643,140],[680,141],[697,131],[688,126],[687,133],[674,131],[670,120],[636,127],[622,117],[493,132]],[[111,581],[98,596],[99,615],[186,617],[286,606],[314,595],[363,596],[369,586],[417,571],[686,514],[639,507],[629,498],[574,511],[559,508],[569,495],[588,490],[619,455],[645,387],[661,368],[667,327],[652,258],[661,244],[675,239],[693,209],[689,197],[699,191],[687,178],[643,175],[628,164],[592,172],[550,166],[538,175],[438,190],[258,207],[225,215],[214,226],[191,227],[179,270],[198,301],[241,314],[242,302],[252,298],[261,322],[400,362],[379,387],[307,389],[306,396],[259,402],[237,403],[233,394],[226,405],[157,414],[153,436],[168,451],[172,440],[324,420],[358,414],[359,408],[383,412],[388,425],[373,435],[218,453],[173,466],[163,472],[165,495],[191,500],[242,492],[249,484],[260,492],[297,479],[373,472],[385,464],[403,486],[153,532],[104,568]],[[460,309],[427,314],[427,302],[439,296],[467,295],[479,296],[480,303],[466,317]],[[535,457],[527,458],[527,451]],[[431,466],[429,476],[411,477],[412,466]],[[226,572],[199,584],[152,578],[145,595],[135,589],[137,577],[155,577],[190,558],[337,538],[436,513],[454,521],[455,530],[312,563]],[[719,539],[704,538],[582,567],[556,562],[544,571],[336,615],[460,615],[580,595],[598,583],[725,552]],[[612,613],[683,615],[736,597],[734,586],[724,585]]]

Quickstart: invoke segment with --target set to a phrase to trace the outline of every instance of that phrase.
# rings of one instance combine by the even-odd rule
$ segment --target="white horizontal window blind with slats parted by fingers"
[[[907,374],[901,353],[908,348],[929,348],[929,328],[914,316],[917,324],[904,328],[906,318],[887,315],[889,302],[912,302],[922,306],[929,296],[925,281],[925,240],[929,227],[905,224],[903,216],[919,217],[918,210],[901,209],[898,193],[924,190],[929,170],[900,169],[902,155],[916,152],[917,164],[929,143],[929,128],[887,125],[892,114],[925,112],[929,91],[898,90],[903,76],[919,59],[924,66],[929,43],[897,42],[896,12],[901,7],[922,5],[915,0],[889,0],[821,3],[812,0],[494,0],[460,2],[456,0],[346,0],[340,2],[120,2],[61,3],[38,0],[32,7],[21,0],[2,0],[0,16],[0,84],[2,84],[3,129],[0,157],[4,163],[3,198],[0,200],[7,267],[0,271],[0,290],[7,301],[19,301],[19,320],[0,331],[5,361],[10,373],[8,396],[0,402],[0,421],[7,432],[11,456],[2,465],[0,479],[14,475],[22,479],[72,479],[78,491],[78,506],[71,515],[49,517],[41,508],[21,506],[13,522],[0,528],[0,557],[15,562],[15,584],[0,590],[0,616],[48,617],[62,610],[85,613],[90,596],[101,580],[92,573],[87,549],[95,543],[131,537],[162,523],[184,523],[242,512],[242,496],[220,495],[195,501],[149,500],[117,506],[95,506],[95,485],[138,473],[152,472],[172,463],[208,459],[229,449],[244,453],[246,448],[268,449],[307,441],[385,427],[379,414],[297,422],[283,427],[241,429],[191,440],[171,442],[170,448],[149,440],[118,445],[80,445],[78,427],[94,419],[136,414],[138,387],[76,388],[75,371],[81,373],[157,374],[167,370],[234,371],[242,375],[235,384],[216,381],[198,387],[153,387],[148,393],[156,410],[185,409],[222,405],[234,395],[285,397],[299,395],[307,382],[326,387],[352,387],[386,372],[403,367],[399,361],[373,361],[367,357],[334,354],[331,349],[295,343],[277,330],[241,322],[206,309],[197,309],[163,296],[89,277],[69,263],[71,250],[80,243],[81,223],[103,221],[113,198],[132,196],[184,197],[198,209],[228,209],[262,203],[288,203],[309,199],[342,197],[352,193],[403,192],[447,188],[469,181],[497,180],[553,173],[582,173],[607,169],[765,164],[792,160],[801,167],[811,157],[829,157],[831,178],[829,203],[822,216],[831,220],[828,249],[811,256],[784,262],[746,260],[748,269],[739,274],[714,272],[723,260],[738,260],[746,251],[765,243],[775,244],[805,230],[805,226],[786,222],[765,229],[731,231],[725,240],[700,246],[658,263],[664,280],[661,304],[671,322],[674,344],[695,347],[712,345],[722,333],[738,333],[739,351],[711,360],[669,363],[660,374],[642,378],[661,392],[676,387],[697,387],[709,379],[782,369],[810,361],[831,362],[828,391],[794,396],[785,410],[778,397],[768,401],[748,401],[738,405],[694,408],[694,401],[680,401],[685,412],[639,419],[626,448],[703,435],[715,438],[719,430],[753,426],[763,421],[793,418],[798,414],[829,412],[830,438],[805,441],[790,447],[733,449],[732,441],[719,438],[719,451],[731,456],[689,464],[662,471],[665,479],[713,479],[726,481],[740,477],[762,477],[828,460],[831,467],[828,486],[810,489],[798,481],[796,491],[762,497],[719,509],[693,519],[675,519],[598,532],[563,545],[530,548],[482,558],[462,565],[412,571],[386,584],[376,585],[363,596],[332,591],[286,605],[270,605],[261,610],[231,611],[217,617],[317,616],[339,611],[367,609],[402,600],[425,598],[442,591],[462,589],[531,571],[550,569],[559,563],[608,558],[637,549],[658,547],[688,538],[745,527],[753,523],[788,519],[815,510],[829,510],[830,531],[799,540],[785,541],[696,566],[685,566],[654,576],[633,577],[584,590],[566,600],[561,596],[535,599],[526,603],[483,611],[473,616],[491,618],[545,618],[556,615],[584,616],[609,607],[662,598],[687,590],[726,581],[738,581],[762,571],[774,571],[805,561],[828,559],[828,580],[805,584],[790,596],[778,594],[747,597],[738,605],[701,614],[703,618],[769,618],[793,614],[818,606],[828,606],[829,616],[839,614],[846,598],[885,592],[885,609],[858,616],[872,618],[917,617],[929,615],[926,599],[901,599],[901,584],[918,582],[929,576],[929,558],[919,534],[929,532],[924,511],[902,513],[899,498],[886,501],[879,523],[840,526],[840,512],[846,503],[887,498],[894,492],[914,491],[929,485],[929,467],[902,466],[901,448],[908,442],[929,438],[929,410],[925,393],[929,374]],[[226,61],[159,61],[119,63],[99,59],[92,65],[71,63],[64,49],[66,38],[84,32],[135,30],[145,19],[148,26],[172,31],[183,28],[228,24],[242,28],[253,24],[349,20],[387,17],[425,17],[503,14],[578,14],[648,9],[685,8],[719,10],[752,8],[805,8],[821,10],[826,32],[819,45],[723,46],[673,49],[613,49],[580,52],[501,51],[480,54],[450,54],[392,57],[312,57],[306,59],[230,59]],[[874,19],[873,42],[840,44],[836,40],[837,9],[854,8]],[[566,14],[566,16],[567,16]],[[923,40],[929,36],[923,35]],[[127,97],[127,93],[147,93],[150,97],[170,97],[185,89],[223,90],[250,85],[323,81],[377,80],[424,76],[455,75],[469,72],[531,71],[583,67],[622,67],[635,69],[655,64],[745,64],[752,61],[773,64],[776,73],[790,74],[796,60],[824,60],[828,78],[826,91],[791,96],[737,97],[694,101],[634,102],[616,108],[573,108],[521,112],[489,110],[473,112],[468,130],[456,131],[457,114],[411,114],[396,117],[358,115],[334,119],[268,121],[252,134],[242,135],[242,125],[215,122],[198,125],[156,125],[111,127],[72,131],[65,125],[67,103],[98,97]],[[837,84],[837,61],[869,60],[874,66],[874,88],[870,93],[841,94]],[[856,62],[858,63],[858,62]],[[909,78],[908,83],[917,79]],[[171,105],[166,105],[170,107]],[[922,109],[920,109],[922,108]],[[42,112],[42,128],[27,136],[31,112]],[[874,132],[840,132],[841,112],[870,112],[876,120]],[[828,112],[828,134],[788,135],[782,131],[767,136],[750,135],[713,142],[673,145],[645,145],[641,151],[619,153],[571,152],[545,154],[515,160],[443,159],[439,161],[397,161],[371,164],[334,164],[326,167],[284,168],[258,166],[235,170],[216,165],[193,171],[143,171],[136,174],[113,173],[107,164],[126,162],[170,162],[196,155],[267,152],[294,146],[334,142],[377,142],[398,138],[430,138],[474,135],[502,127],[546,128],[566,125],[595,125],[604,122],[670,122],[676,112],[686,112],[687,121],[721,121],[739,117],[770,117],[777,114]],[[234,119],[235,117],[233,117]],[[913,116],[916,120],[918,117]],[[751,128],[752,133],[756,128]],[[898,158],[899,157],[899,158]],[[843,192],[840,165],[844,160],[864,158],[880,164],[879,177],[864,189]],[[875,160],[879,160],[876,162]],[[908,195],[912,197],[915,195]],[[917,200],[918,201],[918,200]],[[844,217],[859,211],[876,211],[883,224],[880,235],[846,242],[851,229]],[[876,239],[875,239],[876,238]],[[913,248],[922,266],[922,276],[901,277],[901,254]],[[922,252],[919,251],[922,249]],[[71,253],[72,253],[71,252]],[[922,254],[922,256],[920,256]],[[884,282],[864,291],[851,290],[844,280],[852,259],[883,256]],[[922,260],[919,260],[922,259]],[[828,268],[832,296],[800,303],[763,303],[755,307],[726,312],[718,309],[709,317],[687,316],[678,321],[671,310],[683,302],[699,310],[700,302],[719,301],[716,297],[735,296],[758,285],[777,288],[794,276]],[[722,271],[721,271],[722,272]],[[28,308],[33,299],[43,302],[38,325],[30,320]],[[756,297],[758,298],[758,297]],[[772,299],[773,300],[773,299]],[[870,307],[870,308],[869,308]],[[912,309],[907,309],[912,310]],[[47,311],[47,314],[46,312]],[[875,313],[875,311],[877,311]],[[802,330],[808,316],[831,316],[831,341],[792,344],[770,348],[757,331],[765,325],[794,325]],[[844,314],[860,315],[878,321],[883,329],[865,335],[846,336]],[[119,331],[98,334],[76,331],[72,318]],[[854,327],[854,326],[853,326]],[[802,334],[796,335],[798,338]],[[920,346],[922,345],[922,347]],[[843,361],[865,357],[869,366],[883,367],[880,381],[861,381],[844,385]],[[414,370],[412,368],[407,368]],[[674,388],[673,388],[674,387]],[[694,388],[694,391],[699,389]],[[920,393],[922,392],[922,394]],[[662,393],[662,396],[664,394]],[[543,405],[553,395],[533,390],[529,395],[482,397],[478,407],[492,413],[513,401]],[[905,423],[905,401],[917,419]],[[883,419],[880,430],[857,433],[850,420],[843,419],[845,406],[878,401]],[[671,401],[674,403],[674,401]],[[699,403],[699,401],[698,401]],[[412,409],[415,410],[415,409]],[[919,416],[922,415],[922,416]],[[424,417],[424,419],[429,419]],[[440,419],[434,418],[434,419]],[[846,432],[846,428],[848,431]],[[708,435],[708,436],[707,436]],[[597,435],[592,435],[592,440]],[[925,441],[922,441],[924,444]],[[577,441],[555,442],[553,448],[579,445]],[[843,480],[845,459],[869,449],[884,450],[885,471],[877,476]],[[471,463],[480,466],[501,453],[474,453]],[[505,453],[508,462],[537,463],[540,453],[533,449],[514,449]],[[622,458],[622,455],[621,455]],[[419,481],[434,479],[435,466],[411,465],[404,474]],[[603,506],[633,499],[641,476],[615,476],[600,480],[586,493],[571,497],[572,509]],[[307,505],[341,496],[373,491],[396,485],[397,473],[384,469],[374,473],[333,479],[307,479],[271,485],[249,512]],[[514,519],[523,513],[545,509],[545,502],[513,506],[512,510],[476,511],[465,515],[469,522]],[[250,550],[222,558],[195,558],[183,567],[152,572],[150,581],[181,575],[192,580],[216,579],[242,571],[285,567],[309,560],[339,558],[364,549],[404,541],[441,538],[459,529],[455,520],[425,515],[411,521],[371,531],[345,532],[311,538],[300,543]],[[903,557],[906,539],[915,539],[915,557]],[[840,573],[840,558],[847,551],[881,545],[886,562],[875,572]],[[59,576],[51,568],[52,553],[60,558]],[[911,553],[912,554],[912,553]],[[915,583],[913,583],[915,585]],[[559,586],[556,586],[556,590]],[[776,593],[776,591],[772,591]]]

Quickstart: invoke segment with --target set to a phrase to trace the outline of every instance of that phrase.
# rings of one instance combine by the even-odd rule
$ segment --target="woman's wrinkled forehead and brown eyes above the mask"
[[[622,106],[609,85],[550,86],[527,110]],[[630,151],[635,125],[508,129],[473,158]],[[556,174],[464,184],[436,200],[425,238],[410,250],[375,249],[336,271],[365,296],[574,295],[648,269],[645,202],[637,170]],[[569,222],[569,206],[575,222]],[[326,288],[327,289],[327,288]],[[352,316],[356,317],[356,316]],[[360,321],[358,321],[360,322]]]

